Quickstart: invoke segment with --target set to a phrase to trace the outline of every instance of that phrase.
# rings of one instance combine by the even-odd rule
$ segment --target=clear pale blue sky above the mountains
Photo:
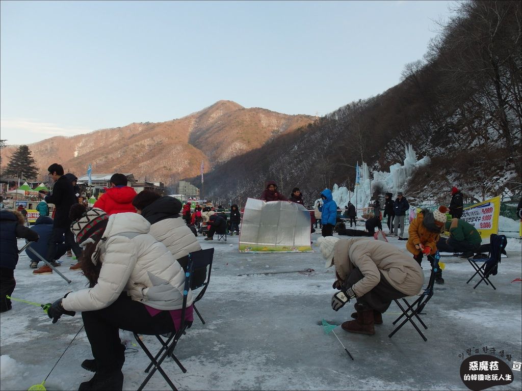
[[[446,1],[2,1],[1,138],[181,118],[219,100],[325,115],[421,59]]]

